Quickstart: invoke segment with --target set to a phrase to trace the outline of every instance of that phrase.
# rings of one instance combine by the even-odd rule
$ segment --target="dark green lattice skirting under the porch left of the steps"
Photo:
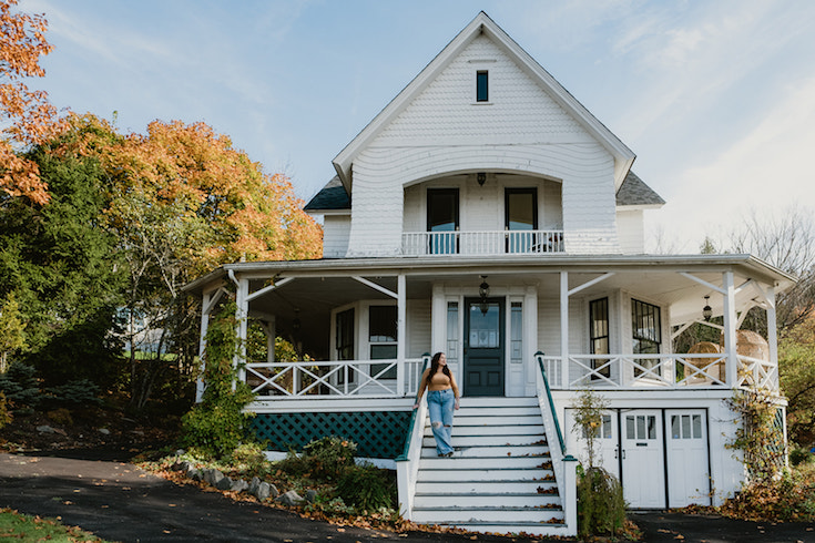
[[[258,413],[252,427],[271,451],[300,451],[315,439],[338,436],[357,443],[358,457],[396,458],[409,422],[410,411]]]

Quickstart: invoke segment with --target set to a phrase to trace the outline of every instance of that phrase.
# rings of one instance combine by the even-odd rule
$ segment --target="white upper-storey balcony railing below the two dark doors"
[[[563,253],[563,230],[407,232],[403,254],[417,255],[538,255]]]

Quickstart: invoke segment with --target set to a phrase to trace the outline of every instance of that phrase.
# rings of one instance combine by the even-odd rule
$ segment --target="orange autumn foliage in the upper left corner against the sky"
[[[41,78],[40,57],[53,49],[45,41],[48,21],[41,14],[12,12],[18,0],[0,0],[0,202],[26,196],[32,202],[48,202],[47,184],[35,162],[18,151],[48,141],[59,130],[57,110],[44,91],[31,91],[24,78]]]

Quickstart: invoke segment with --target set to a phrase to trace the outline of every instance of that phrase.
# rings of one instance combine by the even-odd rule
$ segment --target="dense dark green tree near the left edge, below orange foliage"
[[[19,358],[45,385],[114,380],[122,266],[116,240],[100,225],[108,207],[98,161],[55,155],[48,145],[26,158],[49,183],[48,205],[24,196],[0,207],[0,296],[13,293],[27,324]],[[108,382],[104,382],[104,380]]]

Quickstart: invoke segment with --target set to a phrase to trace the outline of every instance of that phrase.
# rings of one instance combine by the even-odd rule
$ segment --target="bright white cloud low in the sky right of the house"
[[[777,105],[712,162],[676,173],[681,187],[649,222],[673,232],[684,250],[696,252],[705,235],[719,236],[755,209],[815,206],[815,76],[795,82]],[[661,225],[661,226],[660,226]]]

